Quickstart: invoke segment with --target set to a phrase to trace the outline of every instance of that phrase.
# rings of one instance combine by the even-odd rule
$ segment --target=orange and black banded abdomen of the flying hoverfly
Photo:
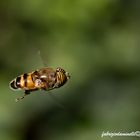
[[[25,73],[21,76],[18,76],[10,82],[10,87],[14,90],[23,89],[23,90],[34,90],[36,89],[32,73]]]

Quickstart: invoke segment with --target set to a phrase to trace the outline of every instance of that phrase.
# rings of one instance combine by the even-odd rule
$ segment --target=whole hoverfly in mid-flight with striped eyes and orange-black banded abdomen
[[[49,91],[63,86],[70,75],[64,69],[44,67],[30,73],[24,73],[10,82],[12,90],[23,90],[24,95],[17,98],[16,101],[23,99],[26,95],[36,90]]]

